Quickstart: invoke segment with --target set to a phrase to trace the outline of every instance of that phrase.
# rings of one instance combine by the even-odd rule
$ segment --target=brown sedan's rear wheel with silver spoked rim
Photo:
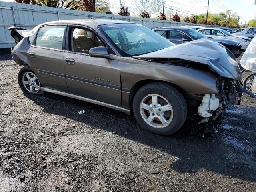
[[[36,94],[36,95],[40,95],[44,93],[41,91],[41,84],[38,77],[28,65],[20,69],[18,73],[18,83],[19,83],[20,89],[24,93],[30,93],[30,94]]]

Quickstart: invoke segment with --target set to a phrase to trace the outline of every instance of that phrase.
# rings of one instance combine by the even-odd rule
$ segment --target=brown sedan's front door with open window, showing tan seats
[[[119,61],[89,56],[90,48],[106,47],[100,36],[90,28],[69,26],[66,42],[64,65],[70,94],[120,106]]]

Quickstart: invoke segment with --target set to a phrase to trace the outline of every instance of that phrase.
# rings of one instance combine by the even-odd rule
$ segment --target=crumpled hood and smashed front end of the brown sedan
[[[199,94],[199,90],[194,91],[198,94],[186,93],[188,118],[196,118],[199,123],[216,120],[228,106],[240,104],[242,92],[256,98],[240,87],[241,72],[231,52],[212,40],[195,40],[134,58],[216,74],[217,94]]]

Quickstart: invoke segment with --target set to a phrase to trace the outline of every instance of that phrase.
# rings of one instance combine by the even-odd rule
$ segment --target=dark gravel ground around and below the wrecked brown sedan
[[[249,96],[214,123],[213,136],[189,121],[160,136],[116,110],[23,94],[20,66],[0,52],[1,192],[256,191],[256,103]]]

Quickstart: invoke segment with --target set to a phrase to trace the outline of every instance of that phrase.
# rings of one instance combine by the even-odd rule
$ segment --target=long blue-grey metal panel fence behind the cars
[[[10,26],[32,29],[38,24],[49,21],[89,18],[124,20],[142,24],[150,29],[163,26],[184,25],[212,27],[202,24],[128,17],[0,1],[0,48],[10,48],[15,46],[14,39],[10,36],[10,32],[7,30]]]

